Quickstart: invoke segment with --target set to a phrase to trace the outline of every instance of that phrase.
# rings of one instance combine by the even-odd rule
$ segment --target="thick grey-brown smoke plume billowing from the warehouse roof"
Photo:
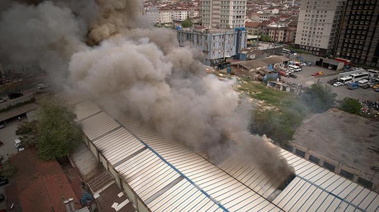
[[[1,16],[1,51],[51,72],[68,64],[72,87],[108,111],[153,122],[166,138],[216,161],[236,157],[280,180],[292,173],[268,142],[249,134],[251,106],[230,89],[233,81],[204,73],[201,51],[180,47],[171,30],[138,28],[139,0],[91,2],[95,15],[78,2],[14,4]]]

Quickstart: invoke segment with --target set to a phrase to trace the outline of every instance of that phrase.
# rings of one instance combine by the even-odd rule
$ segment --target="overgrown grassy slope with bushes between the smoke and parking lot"
[[[252,111],[250,131],[253,134],[265,134],[282,147],[292,139],[309,112],[300,96],[267,88],[265,84],[248,78],[239,81],[237,90],[263,102]],[[264,106],[274,107],[276,110],[267,110]]]

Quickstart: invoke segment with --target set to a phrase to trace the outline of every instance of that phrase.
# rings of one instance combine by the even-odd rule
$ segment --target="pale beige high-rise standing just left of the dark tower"
[[[333,55],[345,0],[301,0],[295,47],[317,56]]]

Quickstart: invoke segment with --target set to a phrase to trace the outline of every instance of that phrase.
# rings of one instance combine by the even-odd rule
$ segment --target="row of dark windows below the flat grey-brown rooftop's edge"
[[[305,157],[305,151],[301,151],[301,150],[298,150],[298,149],[296,149],[295,150],[295,154],[297,154],[297,155],[299,155],[300,157]],[[311,161],[311,162],[314,162],[314,163],[316,163],[317,165],[319,165],[319,162],[320,162],[320,158],[317,158],[317,157],[315,157],[315,156],[313,156],[313,155],[309,155],[309,160]],[[335,170],[336,170],[336,166],[335,165],[333,165],[333,164],[331,164],[331,163],[329,163],[329,162],[327,162],[327,161],[324,161],[323,162],[323,164],[322,164],[322,167],[324,167],[325,169],[328,169],[329,171],[331,171],[331,172],[334,172]],[[347,178],[347,179],[349,179],[349,180],[353,180],[353,177],[354,177],[354,174],[353,173],[350,173],[350,172],[348,172],[348,171],[346,171],[346,170],[344,170],[344,169],[341,169],[341,171],[340,171],[340,173],[339,173],[341,176],[343,176],[343,177],[345,177],[345,178]],[[358,184],[361,184],[361,185],[363,185],[363,186],[365,186],[365,187],[367,187],[367,188],[372,188],[373,187],[373,182],[370,182],[370,181],[368,181],[368,180],[365,180],[365,179],[363,179],[363,178],[361,178],[361,177],[359,177],[358,178]]]

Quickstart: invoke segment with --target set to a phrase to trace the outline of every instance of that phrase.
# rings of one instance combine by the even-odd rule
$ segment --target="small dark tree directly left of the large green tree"
[[[21,143],[26,147],[35,146],[37,141],[37,121],[23,121],[18,125],[16,135],[19,136]]]

